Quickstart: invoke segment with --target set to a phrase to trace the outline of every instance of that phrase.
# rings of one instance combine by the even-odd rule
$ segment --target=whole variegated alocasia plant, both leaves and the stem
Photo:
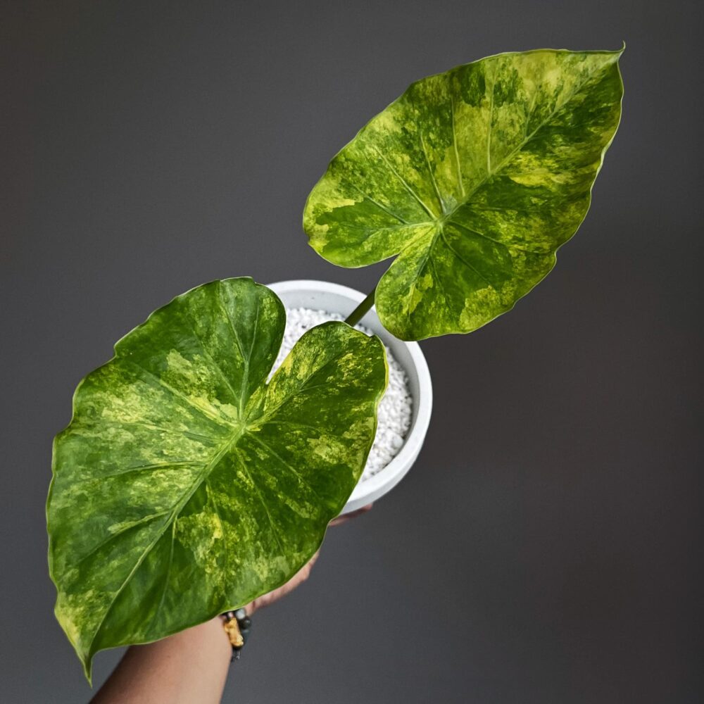
[[[330,163],[303,226],[329,261],[396,257],[376,303],[401,339],[513,307],[576,232],[620,120],[622,51],[500,54],[415,82]],[[384,347],[308,331],[268,380],[275,294],[224,279],[178,296],[78,386],[47,503],[56,616],[93,655],[249,603],[320,546],[362,474]]]

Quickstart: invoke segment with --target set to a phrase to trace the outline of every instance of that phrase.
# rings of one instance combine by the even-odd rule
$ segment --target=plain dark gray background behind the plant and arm
[[[89,689],[44,499],[79,379],[217,277],[371,289],[306,245],[329,158],[407,84],[498,51],[615,49],[591,213],[513,313],[422,343],[420,459],[256,617],[226,701],[700,700],[698,3],[4,6],[0,699]],[[119,653],[96,658],[96,683]]]

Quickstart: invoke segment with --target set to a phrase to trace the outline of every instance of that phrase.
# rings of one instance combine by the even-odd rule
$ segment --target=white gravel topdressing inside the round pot
[[[286,331],[279,356],[274,364],[274,370],[284,361],[298,338],[306,330],[328,320],[344,320],[344,318],[339,313],[327,313],[325,310],[287,308]],[[355,327],[367,335],[372,334],[372,331],[363,325]],[[362,482],[383,470],[398,454],[406,439],[413,413],[413,398],[411,398],[408,388],[408,376],[403,367],[394,359],[388,347],[386,347],[386,361],[389,363],[389,386],[386,387],[386,393],[379,403],[377,434],[360,480]]]

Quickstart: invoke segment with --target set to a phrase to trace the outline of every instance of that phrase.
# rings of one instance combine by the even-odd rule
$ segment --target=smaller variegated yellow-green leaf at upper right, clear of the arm
[[[311,192],[311,246],[396,260],[375,302],[401,339],[471,332],[513,307],[584,219],[616,132],[621,51],[527,51],[410,86]]]

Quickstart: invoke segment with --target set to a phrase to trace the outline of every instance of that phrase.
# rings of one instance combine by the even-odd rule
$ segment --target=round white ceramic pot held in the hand
[[[279,281],[268,286],[287,308],[313,308],[326,310],[328,313],[341,313],[344,316],[349,315],[365,298],[365,294],[360,291],[327,281]],[[342,513],[350,513],[367,503],[377,501],[403,479],[423,445],[433,406],[430,372],[420,345],[417,342],[403,342],[387,332],[379,322],[374,308],[360,323],[384,341],[398,363],[406,370],[410,395],[413,397],[413,417],[406,441],[396,457],[373,477],[357,484]]]

